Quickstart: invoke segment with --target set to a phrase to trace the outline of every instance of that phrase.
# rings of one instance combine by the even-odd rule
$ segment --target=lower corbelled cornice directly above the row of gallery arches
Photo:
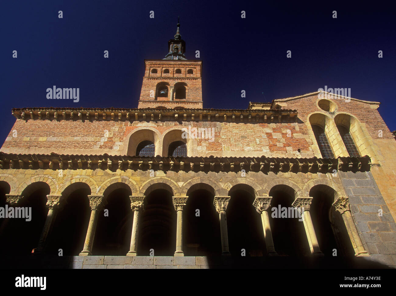
[[[371,159],[340,158],[268,158],[261,157],[139,157],[60,154],[6,154],[0,152],[0,169],[117,169],[156,171],[335,173],[336,171],[369,171]]]

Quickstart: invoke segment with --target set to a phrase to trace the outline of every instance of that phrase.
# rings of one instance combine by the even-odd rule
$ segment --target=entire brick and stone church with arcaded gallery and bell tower
[[[138,108],[12,110],[2,250],[71,268],[396,267],[396,141],[380,103],[316,91],[203,108],[202,61],[179,26],[166,57],[145,60]]]

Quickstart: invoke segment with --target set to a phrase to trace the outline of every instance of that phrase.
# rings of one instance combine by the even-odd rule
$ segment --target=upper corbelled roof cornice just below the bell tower
[[[139,101],[146,102],[146,101]],[[161,102],[161,101],[147,101]],[[190,103],[190,102],[182,102]],[[192,102],[201,103],[201,102]],[[166,104],[166,101],[164,101]],[[23,120],[71,121],[221,121],[295,122],[297,110],[248,109],[154,109],[154,108],[13,108],[12,115]]]

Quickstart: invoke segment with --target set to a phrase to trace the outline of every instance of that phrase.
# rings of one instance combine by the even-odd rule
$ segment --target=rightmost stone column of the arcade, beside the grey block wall
[[[346,230],[348,231],[352,246],[355,249],[355,256],[369,256],[367,251],[364,249],[362,240],[360,239],[358,233],[358,229],[356,228],[355,222],[352,218],[352,214],[350,213],[349,198],[340,197],[333,203],[333,206],[337,211],[341,213],[341,216],[343,217]]]

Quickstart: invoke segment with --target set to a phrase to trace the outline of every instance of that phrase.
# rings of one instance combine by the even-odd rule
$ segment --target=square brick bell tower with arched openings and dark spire
[[[145,60],[145,75],[137,108],[202,109],[202,61],[187,60],[180,22],[168,54],[162,60]]]

